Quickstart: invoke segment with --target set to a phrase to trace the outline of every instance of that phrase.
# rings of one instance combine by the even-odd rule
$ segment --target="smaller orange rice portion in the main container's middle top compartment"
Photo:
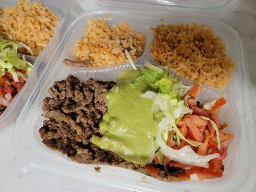
[[[127,61],[127,49],[136,59],[143,53],[145,37],[126,23],[110,26],[103,18],[88,20],[85,36],[78,39],[74,53],[78,61],[92,61],[92,66],[121,64]]]

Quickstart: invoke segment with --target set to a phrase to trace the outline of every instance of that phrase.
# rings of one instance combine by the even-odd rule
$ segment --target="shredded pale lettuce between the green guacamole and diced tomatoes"
[[[147,61],[144,66],[147,67],[147,69],[142,70],[142,75],[135,79],[134,85],[137,87],[142,81],[146,81],[148,84],[155,84],[155,86],[158,87],[157,93],[146,91],[141,95],[141,97],[153,101],[152,114],[155,120],[158,121],[158,133],[155,141],[155,148],[156,145],[160,147],[155,153],[155,156],[158,157],[158,163],[161,163],[162,158],[167,156],[176,162],[207,168],[208,161],[219,157],[219,154],[199,156],[189,145],[184,146],[180,150],[174,150],[166,145],[169,132],[175,132],[178,146],[181,143],[181,139],[192,146],[203,144],[198,141],[186,139],[176,125],[185,114],[192,114],[193,112],[186,103],[186,99],[189,98],[186,93],[191,86],[184,85],[178,78],[174,77],[170,71],[151,65]],[[185,101],[182,100],[182,97],[186,98]],[[211,121],[211,123],[214,122]],[[216,124],[214,123],[213,126],[215,128]],[[218,138],[219,132],[217,133],[217,139]]]

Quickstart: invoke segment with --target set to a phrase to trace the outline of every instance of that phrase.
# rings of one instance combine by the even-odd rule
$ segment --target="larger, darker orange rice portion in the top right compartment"
[[[198,24],[168,24],[151,28],[151,56],[161,65],[189,80],[224,89],[235,69],[225,54],[220,37],[211,27]]]

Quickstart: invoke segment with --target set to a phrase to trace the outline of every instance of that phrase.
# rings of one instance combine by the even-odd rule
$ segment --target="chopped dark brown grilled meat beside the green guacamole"
[[[106,96],[114,84],[93,79],[83,83],[73,75],[55,82],[49,89],[51,97],[43,100],[44,116],[49,120],[39,130],[42,142],[79,163],[128,168],[150,175],[144,167],[90,142],[93,134],[100,135],[99,123],[108,107]],[[153,177],[164,181],[177,181],[177,174],[184,171],[169,165],[155,167],[159,173]]]

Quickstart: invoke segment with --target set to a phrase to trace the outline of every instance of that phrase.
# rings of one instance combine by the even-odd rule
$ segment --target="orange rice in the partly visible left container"
[[[38,1],[18,0],[18,6],[0,11],[0,31],[23,42],[38,56],[54,35],[59,17]],[[19,52],[28,54],[27,49]]]

